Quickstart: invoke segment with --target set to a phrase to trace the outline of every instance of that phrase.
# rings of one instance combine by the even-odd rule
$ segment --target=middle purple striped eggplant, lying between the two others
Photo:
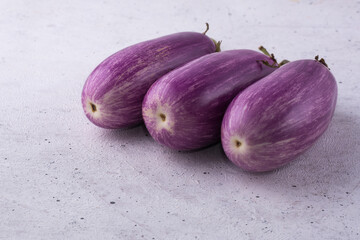
[[[151,136],[177,150],[194,150],[220,141],[223,115],[244,88],[275,69],[252,50],[230,50],[196,59],[156,81],[143,102]]]

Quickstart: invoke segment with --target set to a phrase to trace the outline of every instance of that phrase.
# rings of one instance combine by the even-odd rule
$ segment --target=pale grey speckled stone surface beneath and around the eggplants
[[[0,1],[0,239],[360,239],[360,1]],[[326,134],[249,174],[221,146],[180,153],[80,104],[104,58],[204,31],[222,48],[320,54],[338,81]]]

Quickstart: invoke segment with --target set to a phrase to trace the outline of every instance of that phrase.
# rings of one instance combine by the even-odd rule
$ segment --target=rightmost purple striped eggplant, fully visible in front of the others
[[[324,133],[335,111],[337,84],[315,60],[288,63],[240,93],[222,122],[228,158],[247,171],[279,168]]]

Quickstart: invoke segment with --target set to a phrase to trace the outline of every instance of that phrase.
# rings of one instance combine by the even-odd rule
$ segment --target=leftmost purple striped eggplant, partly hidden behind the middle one
[[[103,128],[142,122],[143,98],[158,78],[196,58],[215,52],[213,40],[181,32],[141,42],[105,59],[85,82],[81,101],[88,119]]]

